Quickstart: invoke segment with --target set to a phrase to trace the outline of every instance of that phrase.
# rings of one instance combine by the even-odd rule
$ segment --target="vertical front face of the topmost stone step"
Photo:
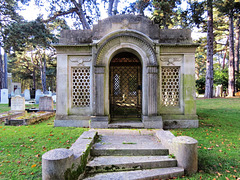
[[[92,149],[91,156],[165,156],[168,149]]]

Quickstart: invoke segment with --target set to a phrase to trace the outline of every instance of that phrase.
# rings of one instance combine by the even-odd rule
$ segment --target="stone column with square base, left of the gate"
[[[104,72],[104,66],[95,66],[91,128],[107,128],[108,126],[108,116],[104,116]]]

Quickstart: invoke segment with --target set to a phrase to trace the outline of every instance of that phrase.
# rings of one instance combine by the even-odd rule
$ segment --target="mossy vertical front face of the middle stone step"
[[[88,173],[99,172],[116,172],[116,171],[128,171],[128,170],[143,170],[153,168],[167,168],[177,166],[176,160],[169,161],[154,161],[154,162],[139,162],[129,164],[115,164],[115,165],[102,165],[102,166],[87,166]]]

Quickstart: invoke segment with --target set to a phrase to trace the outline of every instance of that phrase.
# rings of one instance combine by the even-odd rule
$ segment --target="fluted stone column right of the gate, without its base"
[[[158,67],[147,67],[148,79],[148,116],[157,115],[157,83],[158,83]]]

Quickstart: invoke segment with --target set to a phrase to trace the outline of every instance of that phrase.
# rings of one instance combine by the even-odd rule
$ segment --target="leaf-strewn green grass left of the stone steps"
[[[41,179],[42,155],[69,148],[86,128],[53,127],[53,118],[36,125],[0,125],[0,179]]]

